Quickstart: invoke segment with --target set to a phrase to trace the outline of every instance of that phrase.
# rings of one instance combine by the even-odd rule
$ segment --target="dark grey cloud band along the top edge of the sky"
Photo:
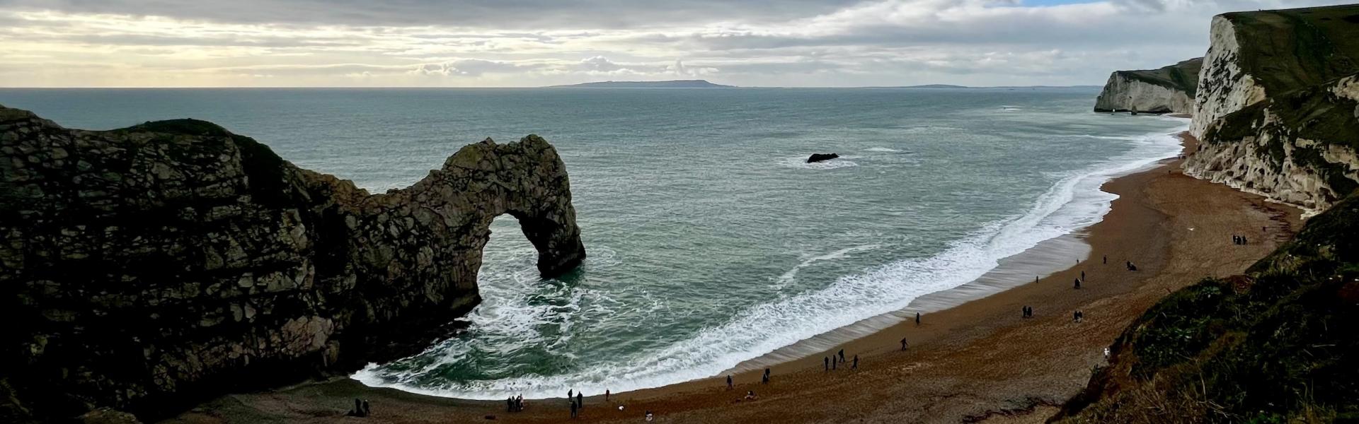
[[[777,22],[859,0],[0,0],[0,8],[156,15],[236,23],[635,29],[739,16]]]

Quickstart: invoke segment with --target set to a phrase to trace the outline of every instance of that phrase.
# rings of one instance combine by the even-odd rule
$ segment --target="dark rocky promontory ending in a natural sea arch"
[[[94,132],[0,107],[0,420],[155,419],[414,353],[480,300],[503,213],[544,276],[584,258],[537,136],[383,194],[194,120]]]

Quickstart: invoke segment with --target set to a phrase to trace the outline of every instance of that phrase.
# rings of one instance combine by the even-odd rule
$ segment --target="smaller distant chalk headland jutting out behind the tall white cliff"
[[[1095,111],[1190,113],[1203,58],[1151,71],[1117,71],[1095,99]]]

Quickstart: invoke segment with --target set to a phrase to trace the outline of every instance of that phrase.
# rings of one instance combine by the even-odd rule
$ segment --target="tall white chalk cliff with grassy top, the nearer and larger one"
[[[1214,18],[1186,174],[1310,209],[1354,189],[1359,5]]]

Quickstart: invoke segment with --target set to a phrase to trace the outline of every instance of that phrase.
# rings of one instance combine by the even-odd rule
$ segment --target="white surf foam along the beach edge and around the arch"
[[[800,340],[864,318],[905,308],[921,295],[966,284],[993,269],[1002,258],[1098,222],[1109,212],[1110,201],[1117,198],[1114,194],[1099,190],[1104,182],[1180,152],[1180,143],[1173,135],[1148,135],[1136,137],[1131,143],[1135,144],[1135,148],[1127,155],[1082,171],[1068,173],[1041,196],[1027,213],[987,224],[951,243],[940,254],[885,264],[859,275],[843,276],[822,289],[799,292],[777,302],[753,306],[742,310],[727,322],[705,328],[688,340],[656,348],[644,357],[550,376],[523,375],[496,381],[450,383],[443,387],[406,383],[421,371],[459,360],[461,353],[448,352],[448,356],[443,357],[440,363],[425,370],[391,375],[370,366],[353,378],[368,386],[395,387],[429,395],[500,400],[511,393],[522,393],[527,398],[552,398],[559,397],[568,387],[584,393],[602,393],[605,389],[621,393],[713,376],[742,361]],[[815,261],[845,255],[856,249],[870,247],[849,247],[805,258],[780,280],[794,279],[798,269],[810,266]],[[495,296],[514,298],[525,296],[525,292],[534,292],[537,288],[529,287],[533,279],[525,280],[525,287],[511,287],[510,292]],[[549,295],[560,295],[568,302],[546,308],[507,307],[496,317],[488,318],[496,321],[488,322],[488,325],[526,326],[534,322],[546,322],[546,315],[550,314],[579,313],[582,298],[591,296],[588,291],[580,289]],[[561,322],[568,322],[568,319]],[[523,342],[535,341],[525,340]]]

